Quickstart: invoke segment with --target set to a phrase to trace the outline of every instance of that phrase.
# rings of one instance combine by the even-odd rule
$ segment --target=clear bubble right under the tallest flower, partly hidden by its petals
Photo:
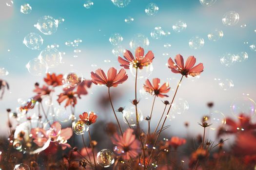
[[[154,70],[154,67],[153,67],[152,64],[143,67],[143,69],[138,69],[137,70],[138,71],[137,78],[139,80],[146,79],[146,78],[148,78],[152,74],[153,70]],[[132,73],[132,75],[134,77],[136,77],[136,69],[133,68],[132,65],[130,65],[130,72]]]

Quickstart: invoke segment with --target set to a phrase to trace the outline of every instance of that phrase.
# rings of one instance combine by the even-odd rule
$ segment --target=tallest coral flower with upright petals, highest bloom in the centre
[[[129,50],[124,52],[123,57],[125,59],[118,56],[118,62],[121,64],[120,66],[125,69],[129,69],[130,65],[132,65],[133,68],[142,69],[143,67],[150,65],[155,58],[152,51],[148,51],[148,53],[144,56],[144,49],[141,47],[138,47],[135,51],[136,58],[134,58],[132,52]]]

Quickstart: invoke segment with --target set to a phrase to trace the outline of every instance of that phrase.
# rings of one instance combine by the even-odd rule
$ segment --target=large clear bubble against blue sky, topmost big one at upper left
[[[51,16],[43,16],[38,19],[36,28],[43,34],[54,34],[58,29],[59,20]]]

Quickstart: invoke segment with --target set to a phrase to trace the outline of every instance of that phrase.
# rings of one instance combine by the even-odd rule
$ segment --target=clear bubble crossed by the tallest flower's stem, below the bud
[[[142,112],[138,109],[138,121],[143,120]],[[135,107],[127,108],[123,110],[123,121],[130,126],[136,126],[136,110]],[[128,121],[128,122],[127,122]]]

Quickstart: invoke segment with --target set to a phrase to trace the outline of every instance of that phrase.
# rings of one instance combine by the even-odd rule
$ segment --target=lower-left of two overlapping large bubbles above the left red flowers
[[[48,66],[47,63],[43,59],[34,58],[28,62],[26,65],[29,73],[34,76],[41,76],[44,75],[47,70]]]

